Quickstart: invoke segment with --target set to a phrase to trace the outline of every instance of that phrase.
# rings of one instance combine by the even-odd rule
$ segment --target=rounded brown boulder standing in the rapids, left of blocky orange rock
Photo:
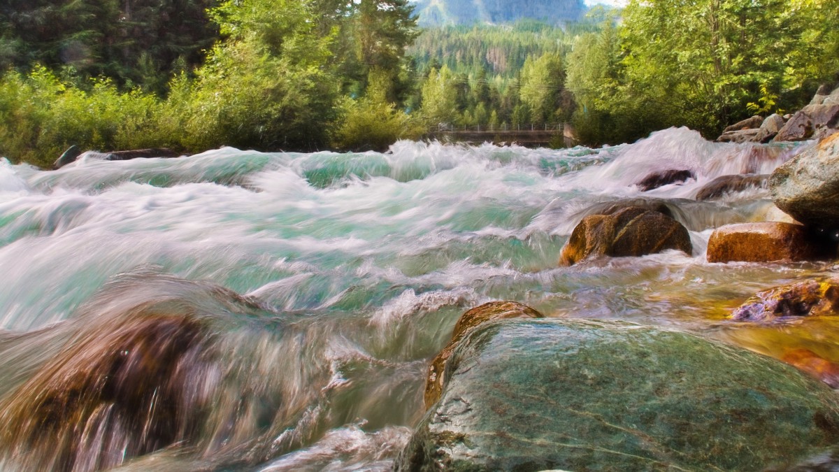
[[[690,254],[690,234],[681,223],[642,207],[624,207],[609,215],[590,215],[574,228],[562,248],[561,265],[603,255],[612,257],[655,254],[679,249]]]

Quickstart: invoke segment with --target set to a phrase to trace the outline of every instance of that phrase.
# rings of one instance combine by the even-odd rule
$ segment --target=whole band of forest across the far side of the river
[[[839,79],[839,0],[480,4],[0,0],[0,155],[384,149],[440,125],[714,136]],[[414,7],[456,21],[420,29]]]

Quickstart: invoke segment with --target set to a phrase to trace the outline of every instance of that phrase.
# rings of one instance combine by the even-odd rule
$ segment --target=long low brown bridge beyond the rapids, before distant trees
[[[463,144],[519,144],[529,148],[576,146],[574,130],[568,123],[527,125],[517,127],[452,127],[440,126],[423,135],[423,139],[437,139],[443,143]]]

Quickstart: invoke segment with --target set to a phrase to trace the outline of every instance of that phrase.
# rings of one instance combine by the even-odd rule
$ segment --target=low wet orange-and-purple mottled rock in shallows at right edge
[[[760,291],[732,312],[737,321],[833,315],[839,310],[839,279],[803,281]]]

